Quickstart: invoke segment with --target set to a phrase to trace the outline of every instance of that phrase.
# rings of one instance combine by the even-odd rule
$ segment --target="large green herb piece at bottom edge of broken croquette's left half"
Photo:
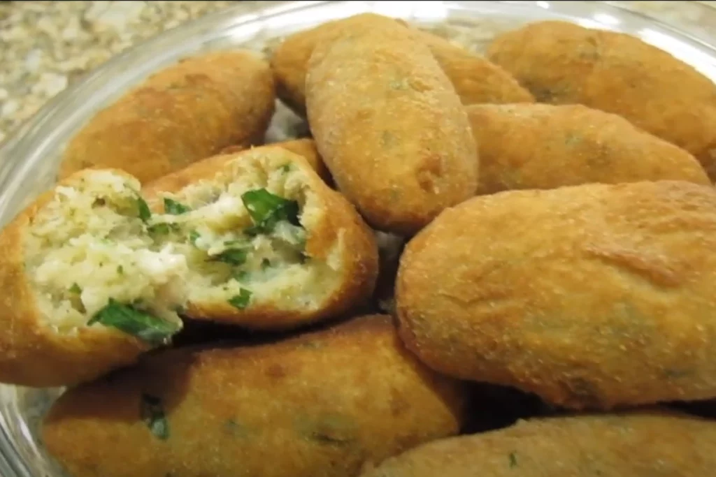
[[[105,326],[117,328],[129,335],[134,335],[150,345],[162,345],[179,330],[179,326],[161,318],[137,310],[130,305],[124,305],[110,298],[105,308],[95,313],[87,325],[100,323]]]

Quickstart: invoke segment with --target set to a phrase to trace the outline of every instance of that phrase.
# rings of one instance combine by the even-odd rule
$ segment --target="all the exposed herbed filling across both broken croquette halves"
[[[165,195],[160,214],[137,181],[113,172],[58,187],[26,238],[49,323],[59,333],[105,325],[163,343],[189,303],[234,313],[320,307],[340,283],[341,236],[322,258],[309,256],[307,230],[326,212],[304,172],[285,159],[244,159]]]

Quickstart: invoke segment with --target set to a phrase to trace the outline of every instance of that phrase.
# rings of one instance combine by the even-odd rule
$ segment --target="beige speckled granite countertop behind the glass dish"
[[[0,2],[0,141],[84,72],[137,42],[190,19],[265,1]],[[699,5],[622,1],[695,34],[716,36]],[[716,1],[702,1],[716,8]]]

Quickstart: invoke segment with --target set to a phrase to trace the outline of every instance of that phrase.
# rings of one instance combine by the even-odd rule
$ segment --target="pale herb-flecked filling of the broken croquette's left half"
[[[26,268],[58,332],[98,323],[162,341],[157,329],[171,335],[180,328],[186,258],[169,243],[153,243],[139,188],[136,180],[95,171],[91,180],[57,187],[34,217]]]

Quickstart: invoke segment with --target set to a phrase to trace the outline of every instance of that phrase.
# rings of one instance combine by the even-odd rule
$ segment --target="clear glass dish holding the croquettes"
[[[54,97],[0,144],[0,225],[39,192],[52,186],[59,152],[92,114],[151,72],[201,51],[234,47],[265,50],[281,37],[315,24],[364,11],[425,26],[480,51],[497,33],[541,19],[639,36],[692,64],[716,81],[716,38],[697,35],[632,11],[630,2],[599,1],[254,1],[165,31],[126,51]],[[643,2],[647,4],[649,2]],[[664,2],[665,3],[665,2]],[[716,9],[681,2],[689,14],[716,24]],[[672,6],[672,10],[675,7]],[[642,9],[643,10],[643,9]],[[301,131],[301,119],[279,107],[267,135],[276,141]],[[296,128],[296,126],[299,126]],[[304,129],[305,131],[305,129]],[[62,471],[39,439],[39,422],[62,389],[0,385],[0,476],[55,477]]]

